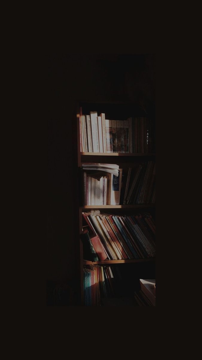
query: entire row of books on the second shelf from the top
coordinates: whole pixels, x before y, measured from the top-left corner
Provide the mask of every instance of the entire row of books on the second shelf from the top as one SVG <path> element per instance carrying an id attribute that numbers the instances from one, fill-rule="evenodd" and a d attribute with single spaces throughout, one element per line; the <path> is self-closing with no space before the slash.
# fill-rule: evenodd
<path id="1" fill-rule="evenodd" d="M 123 169 L 118 167 L 97 163 L 82 165 L 83 205 L 119 205 L 120 198 L 123 204 L 155 203 L 155 162 L 129 167 L 124 185 L 121 184 Z"/>

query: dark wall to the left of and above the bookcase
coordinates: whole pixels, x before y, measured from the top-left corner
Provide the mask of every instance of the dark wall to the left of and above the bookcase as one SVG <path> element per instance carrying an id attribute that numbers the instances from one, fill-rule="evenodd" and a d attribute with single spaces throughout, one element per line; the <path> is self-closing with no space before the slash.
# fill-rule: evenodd
<path id="1" fill-rule="evenodd" d="M 155 104 L 155 55 L 69 54 L 49 58 L 47 305 L 73 305 L 76 101 L 126 101 L 150 112 Z"/>

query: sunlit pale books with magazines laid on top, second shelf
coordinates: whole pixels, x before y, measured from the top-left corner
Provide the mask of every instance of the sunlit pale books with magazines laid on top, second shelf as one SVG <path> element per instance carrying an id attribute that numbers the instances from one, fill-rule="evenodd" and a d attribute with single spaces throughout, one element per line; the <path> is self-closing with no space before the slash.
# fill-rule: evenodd
<path id="1" fill-rule="evenodd" d="M 122 169 L 119 165 L 87 163 L 83 169 L 83 205 L 119 205 Z"/>

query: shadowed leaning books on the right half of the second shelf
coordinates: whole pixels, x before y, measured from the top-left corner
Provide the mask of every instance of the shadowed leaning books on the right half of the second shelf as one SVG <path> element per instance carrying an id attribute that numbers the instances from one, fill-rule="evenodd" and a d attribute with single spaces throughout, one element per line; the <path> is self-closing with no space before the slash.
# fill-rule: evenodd
<path id="1" fill-rule="evenodd" d="M 123 204 L 155 203 L 155 162 L 148 161 L 138 167 L 129 167 Z"/>

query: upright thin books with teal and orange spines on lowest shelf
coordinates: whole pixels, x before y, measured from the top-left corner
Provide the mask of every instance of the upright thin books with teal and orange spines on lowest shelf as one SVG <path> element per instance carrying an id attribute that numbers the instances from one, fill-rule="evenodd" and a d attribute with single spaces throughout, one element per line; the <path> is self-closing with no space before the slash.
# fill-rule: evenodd
<path id="1" fill-rule="evenodd" d="M 94 270 L 84 266 L 83 270 L 85 306 L 100 306 L 101 299 L 117 294 L 116 289 L 121 278 L 118 266 L 94 266 Z"/>

